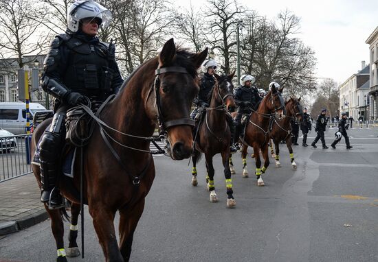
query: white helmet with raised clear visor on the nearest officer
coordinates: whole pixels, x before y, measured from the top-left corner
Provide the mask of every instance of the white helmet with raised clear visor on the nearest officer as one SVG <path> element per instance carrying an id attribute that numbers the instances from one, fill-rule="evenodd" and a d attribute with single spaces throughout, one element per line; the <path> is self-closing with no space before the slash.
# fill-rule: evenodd
<path id="1" fill-rule="evenodd" d="M 72 33 L 78 32 L 80 20 L 86 18 L 100 19 L 99 26 L 105 28 L 111 22 L 111 12 L 95 1 L 76 1 L 67 10 L 67 29 Z"/>

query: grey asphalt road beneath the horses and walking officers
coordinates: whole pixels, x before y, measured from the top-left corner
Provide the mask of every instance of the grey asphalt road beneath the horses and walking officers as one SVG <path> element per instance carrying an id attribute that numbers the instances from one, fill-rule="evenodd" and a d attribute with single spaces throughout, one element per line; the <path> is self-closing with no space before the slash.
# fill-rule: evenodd
<path id="1" fill-rule="evenodd" d="M 334 132 L 326 133 L 327 144 Z M 282 167 L 271 159 L 265 187 L 256 186 L 250 157 L 251 176 L 241 177 L 236 154 L 235 209 L 225 206 L 219 156 L 214 159 L 218 203 L 209 202 L 205 190 L 204 160 L 197 167 L 199 186 L 192 187 L 188 160 L 156 156 L 157 176 L 131 261 L 378 261 L 378 130 L 349 134 L 353 150 L 346 150 L 344 140 L 337 150 L 294 147 L 297 170 L 283 145 Z M 311 143 L 314 134 L 309 136 Z M 69 261 L 104 261 L 88 213 L 85 219 L 85 259 Z M 55 256 L 49 221 L 0 239 L 0 261 L 55 261 Z"/>

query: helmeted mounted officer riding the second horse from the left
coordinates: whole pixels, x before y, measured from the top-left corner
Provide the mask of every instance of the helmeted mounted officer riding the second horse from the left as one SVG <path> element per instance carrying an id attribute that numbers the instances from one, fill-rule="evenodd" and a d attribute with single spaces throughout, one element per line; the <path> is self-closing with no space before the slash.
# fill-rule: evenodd
<path id="1" fill-rule="evenodd" d="M 212 60 L 212 59 L 203 61 L 201 65 L 201 71 L 203 73 L 203 76 L 199 82 L 199 93 L 197 97 L 194 98 L 194 104 L 196 105 L 196 108 L 194 108 L 192 114 L 190 115 L 190 117 L 192 119 L 195 119 L 196 121 L 199 121 L 203 112 L 205 112 L 206 108 L 210 106 L 211 91 L 215 84 L 214 73 L 216 72 L 216 66 L 217 64 L 215 60 Z M 232 136 L 235 132 L 234 121 L 232 120 L 232 117 L 230 114 L 226 114 L 226 119 L 227 119 L 228 125 L 230 126 L 231 141 L 232 141 Z M 194 130 L 194 132 L 195 131 L 197 131 L 197 127 Z M 230 147 L 230 150 L 232 153 L 236 152 L 236 148 L 233 147 L 232 145 Z"/>

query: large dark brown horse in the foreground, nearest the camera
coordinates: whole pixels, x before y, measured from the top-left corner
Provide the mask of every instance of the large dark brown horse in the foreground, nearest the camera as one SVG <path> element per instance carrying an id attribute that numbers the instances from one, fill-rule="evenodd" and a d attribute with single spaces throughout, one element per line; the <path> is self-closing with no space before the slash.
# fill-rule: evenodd
<path id="1" fill-rule="evenodd" d="M 189 158 L 192 153 L 194 121 L 189 119 L 189 111 L 199 90 L 197 69 L 207 53 L 207 49 L 201 53 L 176 49 L 173 39 L 168 40 L 159 56 L 142 64 L 100 113 L 100 119 L 113 129 L 96 126 L 84 148 L 83 195 L 106 261 L 129 261 L 133 233 L 155 178 L 146 137 L 152 136 L 156 123 L 168 132 L 173 159 Z M 36 128 L 32 154 L 48 124 L 45 121 Z M 76 174 L 79 170 L 80 165 L 75 165 Z M 39 167 L 34 165 L 33 171 L 41 187 Z M 71 231 L 77 230 L 80 177 L 61 176 L 59 188 L 73 203 Z M 52 219 L 52 232 L 60 252 L 57 261 L 67 261 L 60 215 L 64 211 L 49 210 L 46 205 L 45 208 Z M 120 246 L 113 223 L 117 211 L 120 212 Z M 76 235 L 70 232 L 70 248 L 77 247 Z"/>

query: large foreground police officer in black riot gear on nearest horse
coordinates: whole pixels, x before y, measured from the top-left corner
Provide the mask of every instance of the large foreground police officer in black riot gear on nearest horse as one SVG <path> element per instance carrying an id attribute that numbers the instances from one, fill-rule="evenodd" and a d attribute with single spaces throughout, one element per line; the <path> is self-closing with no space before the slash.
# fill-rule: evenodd
<path id="1" fill-rule="evenodd" d="M 81 0 L 67 10 L 67 34 L 52 41 L 44 62 L 41 86 L 54 96 L 54 117 L 42 136 L 41 201 L 51 209 L 63 205 L 63 197 L 56 187 L 60 174 L 60 154 L 65 144 L 65 116 L 69 108 L 78 104 L 104 102 L 118 93 L 123 83 L 115 62 L 115 47 L 101 43 L 98 28 L 107 27 L 111 12 L 95 1 Z"/>

